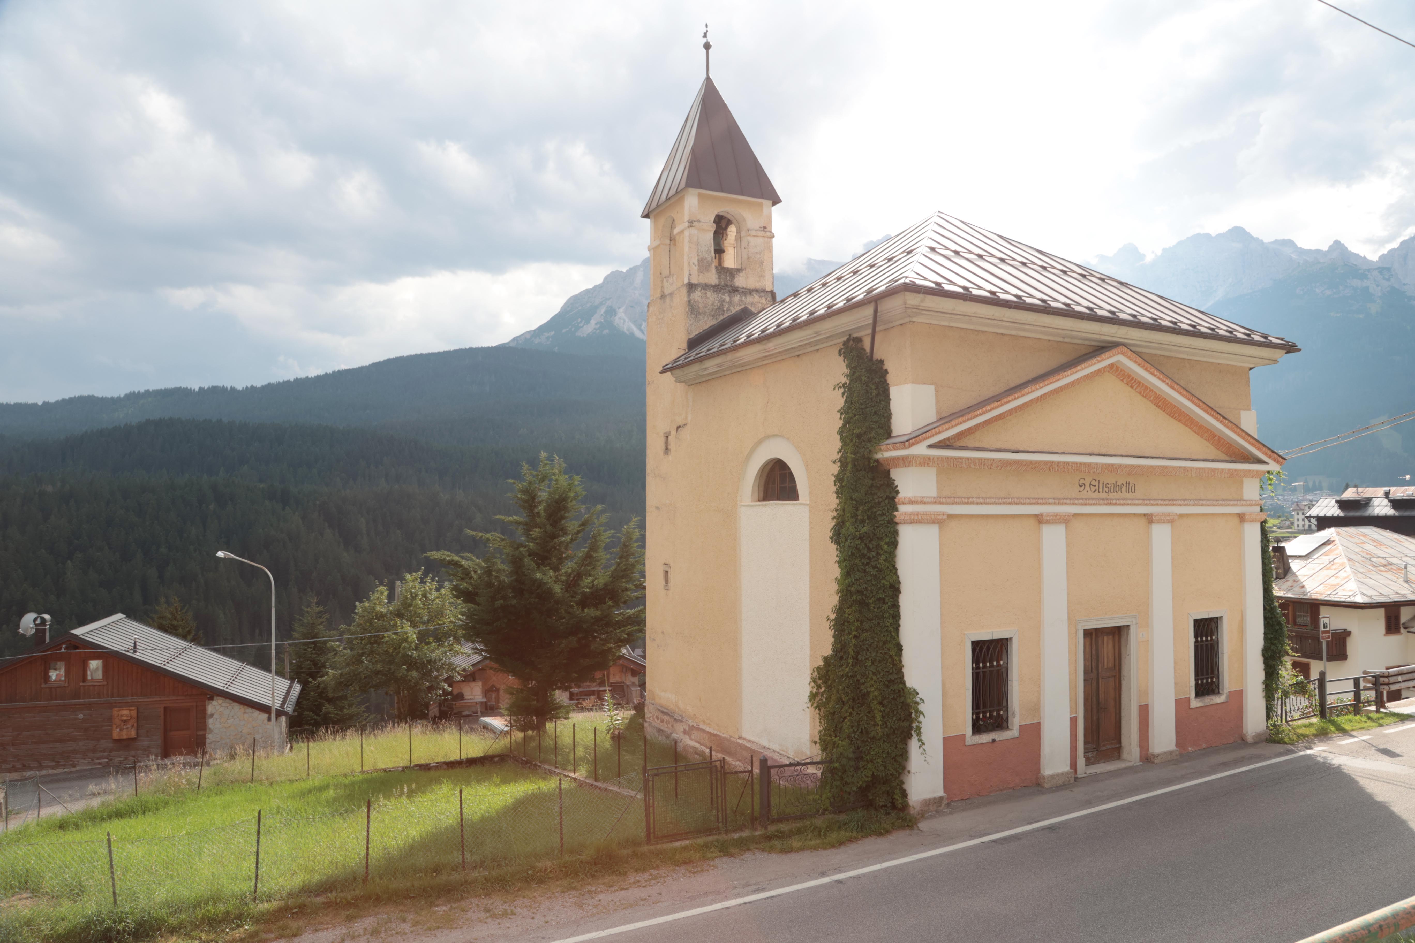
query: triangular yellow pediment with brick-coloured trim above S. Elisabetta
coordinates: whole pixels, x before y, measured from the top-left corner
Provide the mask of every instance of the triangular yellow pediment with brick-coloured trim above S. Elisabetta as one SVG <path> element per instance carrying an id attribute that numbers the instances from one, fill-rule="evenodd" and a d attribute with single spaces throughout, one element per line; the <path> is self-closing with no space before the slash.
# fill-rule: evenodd
<path id="1" fill-rule="evenodd" d="M 1235 423 L 1124 346 L 1064 363 L 882 451 L 969 450 L 1281 467 Z"/>

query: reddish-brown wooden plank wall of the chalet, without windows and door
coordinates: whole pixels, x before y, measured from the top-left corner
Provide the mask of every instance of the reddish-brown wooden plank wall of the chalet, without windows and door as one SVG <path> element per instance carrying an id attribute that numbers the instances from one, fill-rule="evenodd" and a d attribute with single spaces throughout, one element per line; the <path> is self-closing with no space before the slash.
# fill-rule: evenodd
<path id="1" fill-rule="evenodd" d="M 103 680 L 83 681 L 103 659 Z M 47 684 L 48 662 L 67 659 L 65 684 Z M 197 749 L 207 744 L 205 690 L 110 653 L 44 652 L 0 670 L 0 771 L 132 763 L 163 755 L 163 708 L 192 707 Z M 113 739 L 113 708 L 137 708 L 137 737 Z"/>

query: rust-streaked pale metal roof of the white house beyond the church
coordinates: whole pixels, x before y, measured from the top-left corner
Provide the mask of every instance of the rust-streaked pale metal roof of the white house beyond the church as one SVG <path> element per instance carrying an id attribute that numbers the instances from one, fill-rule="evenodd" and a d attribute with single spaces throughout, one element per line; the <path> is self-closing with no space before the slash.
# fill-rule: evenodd
<path id="1" fill-rule="evenodd" d="M 1329 527 L 1283 546 L 1292 570 L 1272 584 L 1279 597 L 1337 605 L 1415 601 L 1415 537 L 1384 527 Z"/>

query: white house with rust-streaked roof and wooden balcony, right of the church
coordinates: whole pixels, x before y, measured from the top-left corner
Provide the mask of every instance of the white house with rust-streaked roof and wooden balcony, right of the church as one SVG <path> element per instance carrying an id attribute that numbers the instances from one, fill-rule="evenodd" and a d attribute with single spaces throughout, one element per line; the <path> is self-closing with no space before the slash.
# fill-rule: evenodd
<path id="1" fill-rule="evenodd" d="M 1322 670 L 1322 616 L 1332 621 L 1327 677 L 1415 663 L 1415 537 L 1329 527 L 1274 550 L 1272 591 L 1288 619 L 1298 674 Z"/>

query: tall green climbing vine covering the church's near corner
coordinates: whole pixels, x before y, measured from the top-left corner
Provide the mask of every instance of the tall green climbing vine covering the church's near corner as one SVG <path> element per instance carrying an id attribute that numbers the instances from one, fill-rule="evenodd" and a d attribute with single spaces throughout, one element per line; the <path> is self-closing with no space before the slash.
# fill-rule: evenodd
<path id="1" fill-rule="evenodd" d="M 838 807 L 901 809 L 908 739 L 923 748 L 918 691 L 904 683 L 899 640 L 899 488 L 874 451 L 890 434 L 889 373 L 859 338 L 841 346 L 845 379 L 831 543 L 839 573 L 831 653 L 811 674 L 821 721 L 824 787 Z"/>

